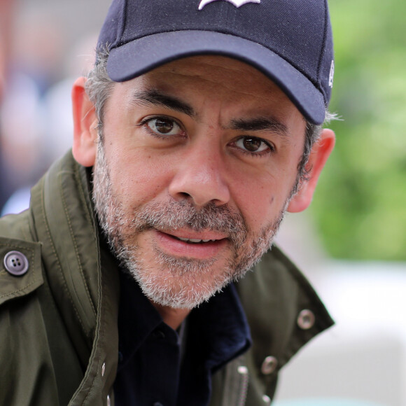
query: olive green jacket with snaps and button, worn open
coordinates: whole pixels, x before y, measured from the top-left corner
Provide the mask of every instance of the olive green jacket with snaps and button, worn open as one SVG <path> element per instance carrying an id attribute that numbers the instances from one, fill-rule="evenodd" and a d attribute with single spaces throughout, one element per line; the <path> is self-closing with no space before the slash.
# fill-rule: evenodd
<path id="1" fill-rule="evenodd" d="M 69 153 L 33 188 L 29 210 L 0 220 L 1 406 L 114 404 L 118 266 L 99 241 L 87 177 Z M 27 258 L 25 274 L 8 272 L 10 251 Z M 253 346 L 216 372 L 211 406 L 269 404 L 279 369 L 332 325 L 277 248 L 237 289 Z"/>

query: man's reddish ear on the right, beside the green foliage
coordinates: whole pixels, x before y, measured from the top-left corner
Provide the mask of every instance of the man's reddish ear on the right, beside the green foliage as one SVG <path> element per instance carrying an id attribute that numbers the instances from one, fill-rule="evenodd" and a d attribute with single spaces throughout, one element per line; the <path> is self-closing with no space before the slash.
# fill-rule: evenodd
<path id="1" fill-rule="evenodd" d="M 335 134 L 332 130 L 323 130 L 321 136 L 311 148 L 309 161 L 306 169 L 309 171 L 308 179 L 300 181 L 299 191 L 293 196 L 288 205 L 290 213 L 297 213 L 307 209 L 313 198 L 316 189 L 318 176 L 327 161 L 335 144 Z"/>

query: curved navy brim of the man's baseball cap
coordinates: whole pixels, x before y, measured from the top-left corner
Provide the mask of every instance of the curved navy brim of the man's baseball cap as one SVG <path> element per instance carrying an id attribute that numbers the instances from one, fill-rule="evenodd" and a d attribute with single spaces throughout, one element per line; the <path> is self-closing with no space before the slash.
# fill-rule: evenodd
<path id="1" fill-rule="evenodd" d="M 193 55 L 223 55 L 251 64 L 278 85 L 311 123 L 325 117 L 323 94 L 285 59 L 258 43 L 214 31 L 170 31 L 111 49 L 107 73 L 124 82 L 162 64 Z"/>

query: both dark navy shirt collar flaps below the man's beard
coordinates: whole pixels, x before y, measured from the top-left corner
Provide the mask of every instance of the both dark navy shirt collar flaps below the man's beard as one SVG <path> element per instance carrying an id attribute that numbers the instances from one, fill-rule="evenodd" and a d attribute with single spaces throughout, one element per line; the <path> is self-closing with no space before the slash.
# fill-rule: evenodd
<path id="1" fill-rule="evenodd" d="M 123 362 L 119 369 L 153 330 L 163 323 L 162 317 L 142 293 L 138 283 L 124 269 L 120 269 L 120 286 L 118 334 Z M 197 349 L 193 347 L 200 346 L 198 353 L 204 356 L 202 362 L 211 373 L 251 346 L 248 322 L 233 283 L 193 309 L 187 325 L 186 337 L 190 340 L 188 347 L 191 346 L 189 348 L 196 353 Z"/>

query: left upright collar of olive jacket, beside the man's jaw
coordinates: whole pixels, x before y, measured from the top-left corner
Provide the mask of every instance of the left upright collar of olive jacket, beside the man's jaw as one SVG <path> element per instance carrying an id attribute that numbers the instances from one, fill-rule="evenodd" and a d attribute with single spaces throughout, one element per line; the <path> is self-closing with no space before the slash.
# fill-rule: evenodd
<path id="1" fill-rule="evenodd" d="M 48 283 L 85 370 L 70 405 L 104 404 L 118 358 L 118 266 L 99 241 L 89 190 L 68 153 L 31 192 Z"/>

